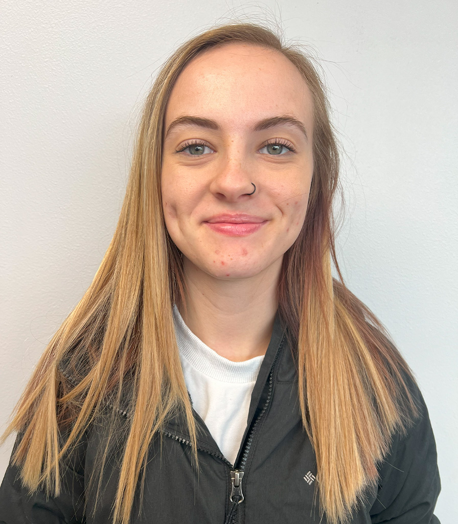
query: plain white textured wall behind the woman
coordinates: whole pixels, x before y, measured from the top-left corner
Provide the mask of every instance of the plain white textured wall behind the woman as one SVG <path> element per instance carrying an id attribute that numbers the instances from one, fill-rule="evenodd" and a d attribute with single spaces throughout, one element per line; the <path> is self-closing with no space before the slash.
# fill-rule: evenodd
<path id="1" fill-rule="evenodd" d="M 229 9 L 230 7 L 230 9 Z M 108 246 L 132 126 L 177 45 L 231 12 L 281 15 L 318 49 L 348 154 L 349 287 L 418 377 L 437 439 L 442 524 L 458 519 L 458 10 L 454 2 L 9 2 L 0 43 L 0 422 Z M 0 453 L 0 475 L 10 448 Z"/>

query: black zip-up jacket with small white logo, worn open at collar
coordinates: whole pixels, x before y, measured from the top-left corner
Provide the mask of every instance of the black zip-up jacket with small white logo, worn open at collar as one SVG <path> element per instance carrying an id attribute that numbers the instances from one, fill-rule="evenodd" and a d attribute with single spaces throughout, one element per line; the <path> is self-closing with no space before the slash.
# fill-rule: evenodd
<path id="1" fill-rule="evenodd" d="M 433 515 L 440 491 L 434 437 L 425 403 L 418 389 L 412 388 L 421 416 L 407 436 L 395 435 L 378 465 L 378 486 L 367 488 L 364 503 L 354 510 L 349 524 L 439 523 Z M 118 416 L 122 421 L 128 413 L 120 410 Z M 302 427 L 294 361 L 278 319 L 251 396 L 248 426 L 234 466 L 222 456 L 197 413 L 195 417 L 203 428 L 197 441 L 199 474 L 183 419 L 177 416 L 166 425 L 162 453 L 159 439 L 151 445 L 143 506 L 139 510 L 137 498 L 132 524 L 327 522 L 320 520 L 315 454 Z M 110 453 L 95 512 L 95 491 L 85 489 L 103 439 L 103 427 L 94 424 L 72 455 L 62 493 L 55 498 L 41 491 L 28 495 L 17 468 L 10 464 L 0 488 L 0 523 L 109 524 L 119 450 Z"/>

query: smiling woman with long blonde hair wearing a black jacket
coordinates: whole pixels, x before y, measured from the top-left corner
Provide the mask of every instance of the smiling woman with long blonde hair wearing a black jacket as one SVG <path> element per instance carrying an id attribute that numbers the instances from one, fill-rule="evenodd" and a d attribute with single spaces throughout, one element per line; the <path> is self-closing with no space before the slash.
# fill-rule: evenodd
<path id="1" fill-rule="evenodd" d="M 438 522 L 415 380 L 331 276 L 338 168 L 323 85 L 270 30 L 174 53 L 113 241 L 6 432 L 1 521 Z"/>

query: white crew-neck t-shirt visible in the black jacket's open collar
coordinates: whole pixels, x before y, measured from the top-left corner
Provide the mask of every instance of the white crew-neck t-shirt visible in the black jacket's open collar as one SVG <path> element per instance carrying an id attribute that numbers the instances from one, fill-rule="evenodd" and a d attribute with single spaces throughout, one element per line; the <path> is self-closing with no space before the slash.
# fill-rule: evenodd
<path id="1" fill-rule="evenodd" d="M 232 362 L 189 330 L 176 305 L 173 319 L 193 408 L 202 417 L 221 453 L 233 464 L 247 427 L 251 392 L 264 356 Z"/>

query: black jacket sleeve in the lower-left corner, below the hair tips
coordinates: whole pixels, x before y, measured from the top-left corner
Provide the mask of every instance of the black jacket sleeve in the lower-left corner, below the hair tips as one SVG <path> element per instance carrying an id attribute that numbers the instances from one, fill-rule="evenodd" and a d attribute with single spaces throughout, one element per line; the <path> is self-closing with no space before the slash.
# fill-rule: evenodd
<path id="1" fill-rule="evenodd" d="M 62 465 L 62 489 L 54 497 L 42 489 L 30 493 L 10 461 L 0 487 L 0 524 L 83 524 L 84 449 L 81 441 Z"/>

